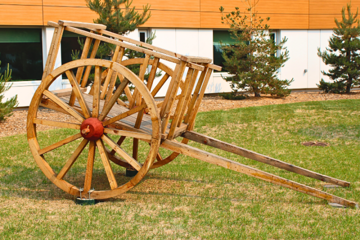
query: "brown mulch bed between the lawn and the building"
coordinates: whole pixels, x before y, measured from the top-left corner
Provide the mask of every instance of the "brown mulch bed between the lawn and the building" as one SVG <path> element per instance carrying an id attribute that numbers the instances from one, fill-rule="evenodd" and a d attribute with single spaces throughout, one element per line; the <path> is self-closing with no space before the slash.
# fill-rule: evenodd
<path id="1" fill-rule="evenodd" d="M 286 97 L 273 97 L 263 95 L 261 97 L 249 96 L 243 100 L 226 100 L 220 96 L 205 96 L 200 105 L 199 111 L 223 110 L 247 106 L 261 106 L 271 104 L 284 104 L 290 102 L 303 101 L 323 101 L 323 100 L 340 100 L 340 99 L 360 99 L 360 90 L 354 90 L 349 94 L 332 94 L 322 92 L 292 92 Z M 61 120 L 67 122 L 76 122 L 69 115 L 59 113 L 53 110 L 39 110 L 38 118 L 49 120 Z M 27 110 L 14 111 L 13 115 L 8 117 L 4 122 L 0 122 L 0 137 L 14 134 L 26 133 Z M 46 125 L 37 125 L 37 130 L 47 130 L 55 127 Z"/>

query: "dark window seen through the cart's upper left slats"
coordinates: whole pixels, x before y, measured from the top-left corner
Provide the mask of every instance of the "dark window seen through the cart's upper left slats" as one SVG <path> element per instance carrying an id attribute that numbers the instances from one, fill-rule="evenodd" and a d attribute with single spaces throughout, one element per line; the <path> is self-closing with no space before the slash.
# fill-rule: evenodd
<path id="1" fill-rule="evenodd" d="M 73 32 L 64 31 L 61 38 L 61 64 L 72 61 L 71 54 L 75 54 L 75 51 L 79 52 L 78 58 L 81 57 L 82 51 L 78 39 L 85 42 L 86 37 Z M 76 74 L 76 70 L 77 69 L 73 69 L 74 74 Z M 62 78 L 67 79 L 66 74 L 62 74 Z"/>

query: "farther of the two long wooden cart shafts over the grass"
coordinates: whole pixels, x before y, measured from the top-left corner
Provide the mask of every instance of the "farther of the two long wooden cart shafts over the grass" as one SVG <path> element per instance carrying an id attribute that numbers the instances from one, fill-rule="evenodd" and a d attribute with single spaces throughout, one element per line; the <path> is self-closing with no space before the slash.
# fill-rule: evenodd
<path id="1" fill-rule="evenodd" d="M 287 171 L 292 171 L 295 173 L 298 173 L 300 175 L 304 175 L 304 176 L 308 176 L 311 178 L 315 178 L 321 181 L 325 181 L 325 182 L 330 182 L 339 186 L 349 186 L 350 182 L 347 181 L 343 181 L 343 180 L 339 180 L 330 176 L 326 176 L 317 172 L 313 172 L 307 169 L 304 169 L 302 167 L 299 166 L 295 166 L 293 164 L 289 164 L 287 162 L 284 161 L 280 161 L 277 160 L 275 158 L 269 157 L 269 156 L 265 156 L 262 155 L 260 153 L 251 151 L 251 150 L 247 150 L 245 148 L 224 142 L 224 141 L 220 141 L 217 140 L 213 137 L 209 137 L 194 131 L 185 131 L 184 133 L 181 134 L 182 137 L 185 137 L 187 139 L 208 145 L 208 146 L 212 146 L 212 147 L 216 147 L 218 149 L 221 150 L 225 150 L 255 161 L 259 161 L 259 162 L 263 162 L 281 169 L 285 169 Z"/>

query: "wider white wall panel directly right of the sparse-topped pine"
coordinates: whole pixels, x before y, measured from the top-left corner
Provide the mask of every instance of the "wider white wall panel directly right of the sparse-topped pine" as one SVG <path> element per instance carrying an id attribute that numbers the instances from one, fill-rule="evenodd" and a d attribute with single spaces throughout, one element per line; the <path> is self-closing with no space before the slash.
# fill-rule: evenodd
<path id="1" fill-rule="evenodd" d="M 307 30 L 281 30 L 280 35 L 288 38 L 285 46 L 290 57 L 281 68 L 281 79 L 294 78 L 289 88 L 306 88 Z"/>

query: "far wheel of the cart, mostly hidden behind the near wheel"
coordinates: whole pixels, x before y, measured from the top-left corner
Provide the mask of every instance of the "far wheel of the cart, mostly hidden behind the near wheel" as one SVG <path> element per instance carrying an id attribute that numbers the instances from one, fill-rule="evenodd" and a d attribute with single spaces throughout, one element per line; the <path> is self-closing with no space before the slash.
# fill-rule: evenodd
<path id="1" fill-rule="evenodd" d="M 121 65 L 128 66 L 128 65 L 132 65 L 132 64 L 142 64 L 144 60 L 145 60 L 144 58 L 127 59 L 127 60 L 122 61 Z M 154 60 L 149 60 L 148 64 L 153 66 L 154 65 Z M 153 90 L 151 91 L 152 96 L 156 95 L 156 93 L 161 89 L 161 87 L 165 84 L 165 82 L 169 81 L 169 79 L 171 78 L 171 76 L 173 74 L 173 70 L 169 66 L 167 66 L 167 65 L 165 65 L 165 64 L 163 64 L 161 62 L 157 63 L 156 65 L 157 65 L 157 69 L 164 71 L 165 74 L 162 76 L 162 78 L 159 80 L 159 82 L 153 87 Z M 181 79 L 180 86 L 179 86 L 181 90 L 183 88 L 183 84 L 184 84 L 184 80 Z M 179 95 L 181 95 L 181 93 L 179 93 Z M 193 126 L 193 122 L 189 122 L 189 124 L 191 124 Z M 125 137 L 122 136 L 122 138 L 119 139 L 119 143 L 121 143 L 121 141 L 124 138 Z M 188 139 L 183 138 L 181 140 L 181 143 L 187 144 L 188 141 L 189 141 Z M 114 151 L 112 151 L 112 153 L 114 153 Z M 178 152 L 171 152 L 167 156 L 161 156 L 159 154 L 159 152 L 158 152 L 157 155 L 156 155 L 156 160 L 157 161 L 155 161 L 150 168 L 152 169 L 152 168 L 157 168 L 157 167 L 163 166 L 163 165 L 171 162 L 178 155 L 179 155 Z M 122 162 L 118 161 L 116 158 L 111 157 L 110 160 L 112 160 L 116 164 L 120 164 L 120 165 L 122 164 Z"/>

